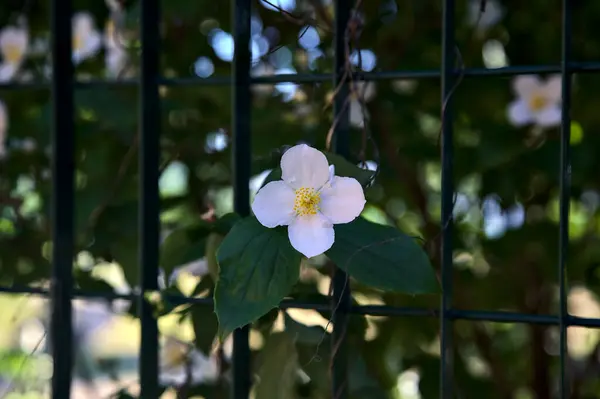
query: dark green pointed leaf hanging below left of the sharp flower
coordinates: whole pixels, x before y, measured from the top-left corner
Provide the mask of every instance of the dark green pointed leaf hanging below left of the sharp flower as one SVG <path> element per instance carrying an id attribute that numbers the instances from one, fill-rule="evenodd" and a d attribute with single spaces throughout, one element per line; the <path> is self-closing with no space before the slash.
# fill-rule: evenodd
<path id="1" fill-rule="evenodd" d="M 300 260 L 280 229 L 268 229 L 254 217 L 237 223 L 217 252 L 220 338 L 279 306 L 298 280 Z"/>

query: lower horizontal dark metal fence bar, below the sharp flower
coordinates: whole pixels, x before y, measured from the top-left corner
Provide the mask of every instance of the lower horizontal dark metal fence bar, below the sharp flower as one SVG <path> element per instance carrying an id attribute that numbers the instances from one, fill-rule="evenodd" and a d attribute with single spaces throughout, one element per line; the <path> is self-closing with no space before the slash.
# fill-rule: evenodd
<path id="1" fill-rule="evenodd" d="M 19 294 L 19 295 L 38 295 L 48 297 L 49 291 L 40 287 L 1 287 L 0 293 Z M 106 300 L 137 300 L 135 294 L 118 294 L 116 292 L 89 292 L 80 289 L 73 290 L 75 299 L 106 299 Z M 213 306 L 212 298 L 193 298 L 181 295 L 165 295 L 165 298 L 175 305 L 201 305 Z M 281 309 L 312 309 L 317 311 L 331 311 L 331 305 L 327 302 L 305 302 L 293 299 L 284 299 L 280 306 Z M 349 313 L 369 315 L 369 316 L 416 316 L 416 317 L 439 317 L 438 309 L 413 308 L 413 307 L 394 307 L 387 305 L 353 305 Z M 555 315 L 527 314 L 506 311 L 480 311 L 480 310 L 461 310 L 453 309 L 449 312 L 449 317 L 453 320 L 473 320 L 487 321 L 495 323 L 532 323 L 545 325 L 559 325 L 560 318 Z M 600 318 L 588 318 L 568 315 L 565 318 L 566 324 L 571 327 L 600 328 Z"/>

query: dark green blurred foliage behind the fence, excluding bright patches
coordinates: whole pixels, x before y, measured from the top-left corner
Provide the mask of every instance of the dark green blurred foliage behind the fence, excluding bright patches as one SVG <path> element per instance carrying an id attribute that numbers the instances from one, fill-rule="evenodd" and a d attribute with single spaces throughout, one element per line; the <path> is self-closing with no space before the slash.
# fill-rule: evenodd
<path id="1" fill-rule="evenodd" d="M 14 0 L 0 4 L 0 26 L 16 22 L 22 3 Z M 75 3 L 78 10 L 91 12 L 100 28 L 109 18 L 102 2 Z M 135 76 L 139 9 L 136 1 L 125 3 L 122 28 L 127 30 L 126 45 Z M 198 57 L 206 56 L 214 63 L 215 76 L 230 73 L 231 64 L 215 55 L 207 37 L 217 27 L 231 32 L 229 3 L 178 0 L 162 4 L 162 73 L 169 78 L 193 78 L 189 85 L 165 86 L 161 90 L 162 162 L 167 166 L 176 160 L 180 170 L 186 171 L 170 178 L 171 190 L 166 183 L 163 186 L 163 228 L 165 232 L 175 231 L 161 247 L 160 262 L 167 273 L 204 255 L 214 272 L 214 250 L 219 237 L 228 230 L 227 223 L 219 224 L 217 220 L 232 210 L 231 145 L 215 151 L 207 146 L 207 140 L 210 144 L 220 129 L 230 138 L 232 91 L 227 86 L 201 85 L 202 79 L 193 76 L 193 64 Z M 331 72 L 332 35 L 327 19 L 323 18 L 332 18 L 330 4 L 324 6 L 324 14 L 316 14 L 320 49 L 325 55 L 311 70 L 306 51 L 297 39 L 305 25 L 302 12 L 311 10 L 314 2 L 297 0 L 294 18 L 253 3 L 263 27 L 274 27 L 279 32 L 278 42 L 271 47 L 286 46 L 299 73 Z M 389 7 L 390 3 L 397 5 L 397 11 Z M 503 0 L 505 16 L 486 29 L 469 24 L 467 2 L 457 3 L 457 46 L 467 67 L 485 66 L 482 51 L 490 40 L 503 46 L 510 65 L 559 64 L 559 1 Z M 573 59 L 597 61 L 600 42 L 594 27 L 600 22 L 600 3 L 574 2 L 573 9 Z M 364 1 L 361 12 L 365 23 L 356 45 L 375 53 L 375 71 L 440 68 L 440 1 Z M 27 18 L 32 38 L 48 37 L 48 2 L 32 1 Z M 47 55 L 30 56 L 23 70 L 33 75 L 33 82 L 39 82 L 44 79 L 46 62 Z M 102 78 L 102 54 L 79 65 L 77 73 L 82 79 Z M 368 130 L 377 150 L 369 144 L 364 155 L 379 163 L 380 173 L 367 192 L 369 208 L 365 216 L 423 237 L 438 268 L 436 248 L 443 224 L 439 220 L 439 79 L 411 82 L 410 90 L 406 89 L 410 86 L 407 82 L 379 80 L 375 84 L 376 95 L 366 107 L 370 115 Z M 305 96 L 296 96 L 288 102 L 282 101 L 281 95 L 255 93 L 249 121 L 253 174 L 277 166 L 283 146 L 302 140 L 324 148 L 332 124 L 331 110 L 324 107 L 333 87 L 328 83 L 302 84 L 299 89 Z M 584 287 L 593 298 L 586 306 L 577 307 L 584 309 L 578 312 L 596 317 L 600 313 L 595 302 L 600 289 L 596 267 L 600 261 L 598 90 L 597 74 L 575 74 L 568 248 L 569 287 Z M 9 156 L 0 161 L 0 283 L 4 286 L 44 283 L 50 273 L 51 251 L 48 206 L 52 186 L 47 177 L 46 151 L 49 91 L 31 82 L 24 82 L 21 88 L 0 85 L 0 99 L 6 103 L 10 117 Z M 77 219 L 77 250 L 87 251 L 95 261 L 114 260 L 122 267 L 128 284 L 135 286 L 139 206 L 135 150 L 137 89 L 134 85 L 94 85 L 78 88 L 76 100 L 77 192 L 73 211 Z M 513 100 L 510 78 L 467 77 L 453 100 L 455 182 L 457 191 L 464 195 L 462 199 L 468 200 L 457 204 L 462 205 L 461 211 L 457 211 L 454 234 L 454 306 L 557 314 L 559 130 L 552 128 L 536 135 L 531 127 L 515 128 L 509 124 L 506 109 Z M 25 151 L 21 146 L 24 139 L 33 139 L 36 149 Z M 361 129 L 353 128 L 351 139 L 352 161 L 358 162 L 363 140 Z M 165 170 L 171 172 L 170 168 Z M 181 176 L 183 184 L 179 187 L 173 179 Z M 520 204 L 525 210 L 524 223 L 500 236 L 486 236 L 481 207 L 489 195 L 496 196 L 503 210 L 514 210 Z M 325 262 L 305 266 L 304 278 L 293 296 L 326 301 L 318 282 L 329 276 L 330 265 Z M 110 289 L 94 275 L 93 269 L 90 273 L 78 268 L 77 285 L 93 291 Z M 194 291 L 208 296 L 213 286 L 213 277 L 208 274 Z M 382 294 L 356 283 L 352 283 L 352 289 L 358 303 L 430 309 L 439 305 L 436 296 Z M 197 307 L 174 311 L 182 313 L 184 318 L 191 317 L 195 344 L 208 351 L 216 334 L 214 315 Z M 134 317 L 134 310 L 131 313 Z M 330 317 L 327 312 L 322 316 Z M 263 337 L 263 345 L 253 349 L 253 375 L 260 377 L 255 388 L 257 397 L 330 397 L 328 337 L 319 347 L 323 360 L 309 362 L 323 335 L 322 327 L 308 326 L 286 315 L 285 329 L 272 332 L 275 318 L 275 313 L 270 314 L 254 326 Z M 524 399 L 555 394 L 559 380 L 556 328 L 458 321 L 455 331 L 455 384 L 460 397 Z M 586 334 L 583 355 L 579 351 L 576 357 L 572 351 L 568 361 L 574 398 L 597 397 L 600 392 L 597 377 L 600 365 L 593 356 L 599 337 L 595 331 Z M 407 370 L 418 373 L 421 397 L 437 397 L 439 322 L 436 318 L 355 315 L 351 317 L 348 341 L 353 398 L 417 397 L 397 388 L 400 375 L 403 378 L 412 375 L 406 374 Z M 577 342 L 570 339 L 569 344 L 573 349 Z M 308 378 L 298 377 L 298 369 Z M 218 389 L 203 386 L 197 392 L 217 398 L 227 386 L 224 379 Z M 278 393 L 273 396 L 273 392 Z M 193 389 L 188 393 L 194 393 Z"/>

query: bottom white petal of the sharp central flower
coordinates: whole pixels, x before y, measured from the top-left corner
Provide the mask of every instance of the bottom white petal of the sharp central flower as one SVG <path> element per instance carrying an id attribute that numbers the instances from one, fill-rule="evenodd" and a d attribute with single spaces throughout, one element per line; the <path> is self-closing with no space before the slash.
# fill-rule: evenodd
<path id="1" fill-rule="evenodd" d="M 307 258 L 321 255 L 333 245 L 333 225 L 321 214 L 299 217 L 288 227 L 290 243 Z"/>

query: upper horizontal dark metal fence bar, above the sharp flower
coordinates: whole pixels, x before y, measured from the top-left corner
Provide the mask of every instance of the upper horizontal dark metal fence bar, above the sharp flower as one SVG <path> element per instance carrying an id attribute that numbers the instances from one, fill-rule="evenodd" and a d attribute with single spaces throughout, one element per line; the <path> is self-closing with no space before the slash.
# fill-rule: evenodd
<path id="1" fill-rule="evenodd" d="M 573 73 L 599 72 L 600 62 L 573 62 L 569 64 L 569 71 Z M 486 77 L 486 76 L 515 76 L 538 73 L 560 73 L 560 65 L 522 65 L 509 66 L 505 68 L 466 68 L 462 72 L 455 70 L 455 75 L 464 77 Z M 329 83 L 332 74 L 281 74 L 271 76 L 256 76 L 250 79 L 251 84 L 277 84 L 277 83 Z M 395 80 L 395 79 L 434 79 L 440 78 L 439 70 L 404 70 L 404 71 L 382 71 L 382 72 L 364 72 L 356 73 L 355 79 L 377 81 L 377 80 Z M 139 84 L 137 79 L 123 80 L 102 80 L 92 79 L 75 82 L 78 89 L 92 89 L 95 87 L 134 87 Z M 161 86 L 227 86 L 232 84 L 230 76 L 214 76 L 209 78 L 161 78 Z M 15 89 L 49 89 L 50 82 L 3 82 L 0 83 L 0 90 Z"/>

